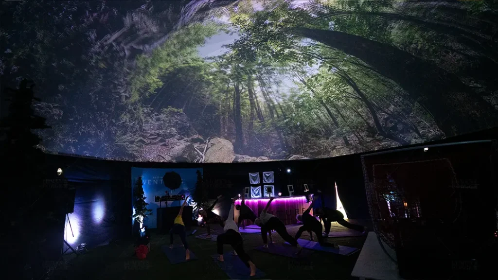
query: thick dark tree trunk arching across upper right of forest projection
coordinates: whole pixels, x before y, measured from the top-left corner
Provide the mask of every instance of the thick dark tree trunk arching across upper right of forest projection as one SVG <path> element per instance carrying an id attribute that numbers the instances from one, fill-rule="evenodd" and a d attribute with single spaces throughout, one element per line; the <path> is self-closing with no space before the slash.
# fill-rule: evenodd
<path id="1" fill-rule="evenodd" d="M 456 75 L 394 46 L 339 31 L 302 27 L 294 31 L 373 66 L 426 108 L 447 137 L 498 125 L 495 108 Z"/>

